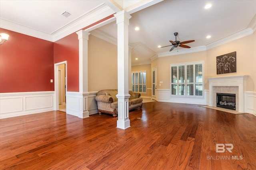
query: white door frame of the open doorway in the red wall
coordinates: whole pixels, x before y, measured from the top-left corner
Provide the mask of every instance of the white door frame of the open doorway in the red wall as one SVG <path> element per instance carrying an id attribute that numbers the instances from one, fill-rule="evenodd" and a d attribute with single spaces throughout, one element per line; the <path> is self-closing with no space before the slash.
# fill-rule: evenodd
<path id="1" fill-rule="evenodd" d="M 62 61 L 60 63 L 54 64 L 54 110 L 59 110 L 59 65 L 65 64 L 65 72 L 66 72 L 66 80 L 68 79 L 67 76 L 67 61 Z M 65 82 L 67 84 L 67 82 Z M 65 88 L 67 92 L 67 86 Z"/>

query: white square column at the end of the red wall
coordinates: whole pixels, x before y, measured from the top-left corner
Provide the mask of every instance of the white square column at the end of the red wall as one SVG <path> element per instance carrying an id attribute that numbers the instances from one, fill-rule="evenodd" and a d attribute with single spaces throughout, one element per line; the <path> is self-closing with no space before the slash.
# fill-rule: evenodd
<path id="1" fill-rule="evenodd" d="M 79 111 L 78 117 L 89 117 L 88 111 L 88 39 L 90 33 L 76 32 L 79 40 Z"/>

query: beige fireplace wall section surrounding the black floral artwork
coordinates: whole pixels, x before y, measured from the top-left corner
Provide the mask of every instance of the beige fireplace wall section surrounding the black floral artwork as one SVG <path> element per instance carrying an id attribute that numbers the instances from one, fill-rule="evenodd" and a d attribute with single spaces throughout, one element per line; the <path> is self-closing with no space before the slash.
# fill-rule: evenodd
<path id="1" fill-rule="evenodd" d="M 247 91 L 256 91 L 255 83 L 255 34 L 207 50 L 207 67 L 205 77 L 249 75 L 246 81 Z M 236 51 L 236 72 L 217 74 L 216 57 Z M 208 89 L 208 88 L 207 88 Z"/>

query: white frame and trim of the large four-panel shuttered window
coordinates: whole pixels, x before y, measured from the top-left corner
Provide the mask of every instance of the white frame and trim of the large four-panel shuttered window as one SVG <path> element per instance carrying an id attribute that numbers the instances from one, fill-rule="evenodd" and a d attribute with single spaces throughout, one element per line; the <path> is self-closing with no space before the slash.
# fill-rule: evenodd
<path id="1" fill-rule="evenodd" d="M 187 95 L 187 85 L 188 84 L 191 84 L 191 83 L 187 83 L 187 65 L 192 65 L 193 64 L 193 75 L 194 75 L 194 80 L 193 80 L 193 84 L 194 86 L 196 84 L 202 84 L 202 96 L 196 96 L 196 95 Z M 196 83 L 196 77 L 195 77 L 195 65 L 196 64 L 202 64 L 202 82 L 200 83 Z M 185 70 L 184 70 L 184 73 L 185 73 L 185 81 L 184 83 L 180 83 L 180 84 L 184 84 L 185 86 L 185 92 L 184 92 L 184 95 L 180 95 L 180 94 L 172 94 L 172 84 L 179 84 L 178 83 L 178 79 L 177 79 L 177 83 L 172 83 L 172 67 L 173 66 L 177 66 L 177 73 L 178 73 L 178 67 L 179 66 L 182 66 L 184 65 L 185 66 Z M 194 91 L 194 94 L 196 94 L 196 92 Z M 183 97 L 183 98 L 204 98 L 204 61 L 195 61 L 195 62 L 187 62 L 187 63 L 177 63 L 177 64 L 170 64 L 170 97 Z"/>

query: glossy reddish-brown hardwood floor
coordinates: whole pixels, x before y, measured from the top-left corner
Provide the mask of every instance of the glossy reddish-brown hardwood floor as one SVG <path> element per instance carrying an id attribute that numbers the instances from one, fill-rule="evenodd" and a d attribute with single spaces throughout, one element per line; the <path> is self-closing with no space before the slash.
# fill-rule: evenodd
<path id="1" fill-rule="evenodd" d="M 0 119 L 0 169 L 256 170 L 252 114 L 151 102 L 130 111 L 128 129 L 117 119 L 62 111 Z M 216 144 L 234 148 L 216 153 Z"/>

